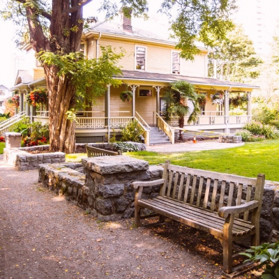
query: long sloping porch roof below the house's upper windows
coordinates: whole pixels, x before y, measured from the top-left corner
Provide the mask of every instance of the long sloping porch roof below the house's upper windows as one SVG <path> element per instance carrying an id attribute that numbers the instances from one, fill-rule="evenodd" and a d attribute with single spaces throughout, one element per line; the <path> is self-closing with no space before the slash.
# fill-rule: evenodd
<path id="1" fill-rule="evenodd" d="M 167 85 L 169 82 L 184 80 L 190 84 L 193 84 L 197 89 L 201 90 L 227 89 L 230 91 L 252 91 L 252 89 L 259 89 L 259 86 L 255 85 L 241 82 L 229 82 L 226 80 L 217 80 L 211 77 L 188 77 L 185 75 L 146 73 L 140 70 L 122 70 L 122 75 L 114 78 L 121 79 L 125 82 L 153 82 L 153 85 L 157 85 L 156 83 L 165 83 Z"/>

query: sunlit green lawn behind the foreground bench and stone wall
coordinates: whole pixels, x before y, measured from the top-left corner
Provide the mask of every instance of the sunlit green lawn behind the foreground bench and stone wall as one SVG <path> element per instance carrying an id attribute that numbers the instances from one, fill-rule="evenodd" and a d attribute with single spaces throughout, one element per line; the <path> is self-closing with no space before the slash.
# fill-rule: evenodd
<path id="1" fill-rule="evenodd" d="M 174 165 L 241 176 L 255 177 L 258 173 L 263 173 L 267 180 L 279 181 L 279 140 L 249 142 L 232 149 L 181 153 L 139 151 L 126 155 L 146 160 L 150 165 L 170 160 Z"/>

